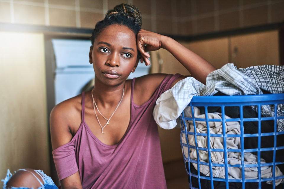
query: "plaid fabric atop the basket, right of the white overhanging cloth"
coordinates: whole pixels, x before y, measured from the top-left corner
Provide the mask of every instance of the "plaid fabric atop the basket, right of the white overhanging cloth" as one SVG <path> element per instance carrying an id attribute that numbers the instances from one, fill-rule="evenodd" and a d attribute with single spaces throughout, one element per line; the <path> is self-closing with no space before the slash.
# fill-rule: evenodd
<path id="1" fill-rule="evenodd" d="M 262 65 L 238 69 L 231 63 L 209 73 L 203 96 L 218 91 L 226 95 L 258 95 L 264 89 L 270 93 L 284 93 L 284 66 Z M 257 106 L 252 106 L 257 111 Z M 274 116 L 272 105 L 261 106 L 262 116 Z M 277 116 L 284 116 L 284 105 L 277 105 Z M 284 131 L 284 120 L 277 120 L 277 131 Z"/>

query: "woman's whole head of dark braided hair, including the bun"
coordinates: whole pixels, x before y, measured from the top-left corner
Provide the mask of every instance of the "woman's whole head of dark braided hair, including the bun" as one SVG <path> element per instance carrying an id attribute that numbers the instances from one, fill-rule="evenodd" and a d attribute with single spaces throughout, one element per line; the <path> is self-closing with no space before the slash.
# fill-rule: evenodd
<path id="1" fill-rule="evenodd" d="M 90 38 L 92 47 L 96 36 L 102 31 L 102 29 L 112 24 L 127 26 L 136 35 L 142 25 L 141 12 L 136 6 L 124 3 L 108 10 L 104 19 L 97 22 L 95 29 L 92 32 L 92 36 Z"/>

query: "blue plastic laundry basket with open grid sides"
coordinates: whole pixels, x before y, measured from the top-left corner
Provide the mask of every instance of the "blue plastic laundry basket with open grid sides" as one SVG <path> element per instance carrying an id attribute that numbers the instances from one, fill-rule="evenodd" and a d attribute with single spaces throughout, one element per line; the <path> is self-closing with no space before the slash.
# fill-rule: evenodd
<path id="1" fill-rule="evenodd" d="M 185 168 L 186 171 L 188 173 L 188 180 L 189 180 L 189 187 L 190 188 L 201 188 L 201 182 L 205 181 L 205 180 L 209 180 L 208 182 L 210 183 L 210 188 L 214 188 L 214 181 L 221 181 L 223 182 L 223 184 L 225 184 L 225 188 L 228 189 L 229 188 L 229 184 L 231 184 L 231 182 L 234 183 L 239 183 L 239 185 L 241 185 L 241 188 L 245 188 L 246 183 L 249 182 L 254 182 L 256 185 L 258 184 L 258 188 L 261 189 L 262 188 L 262 183 L 266 183 L 267 181 L 271 182 L 271 187 L 275 188 L 275 180 L 277 179 L 282 179 L 284 178 L 284 176 L 275 176 L 275 166 L 283 166 L 284 164 L 284 159 L 281 161 L 275 161 L 276 157 L 278 157 L 278 155 L 281 155 L 280 151 L 283 151 L 284 149 L 284 145 L 278 145 L 277 142 L 280 142 L 279 140 L 284 139 L 284 132 L 277 132 L 277 120 L 281 121 L 281 119 L 284 119 L 283 115 L 279 116 L 279 110 L 277 112 L 277 105 L 278 105 L 278 109 L 279 106 L 283 106 L 284 104 L 284 93 L 281 94 L 264 94 L 264 95 L 242 95 L 242 96 L 195 96 L 192 98 L 191 102 L 188 105 L 188 108 L 191 109 L 192 112 L 192 118 L 191 117 L 186 117 L 185 116 L 185 111 L 183 111 L 182 115 L 180 116 L 180 124 L 181 124 L 181 133 L 180 133 L 180 144 L 182 147 L 182 151 L 183 151 L 183 158 L 184 158 L 184 162 L 185 162 Z M 261 114 L 261 106 L 262 105 L 270 105 L 272 107 L 272 115 L 274 113 L 274 116 L 269 116 L 269 117 L 264 117 Z M 199 109 L 203 109 L 204 113 L 205 113 L 205 118 L 195 118 L 194 117 L 194 107 L 199 107 Z M 221 109 L 221 119 L 209 119 L 208 117 L 208 109 L 212 108 L 212 107 L 219 107 Z M 249 118 L 244 118 L 243 116 L 243 110 L 245 108 L 251 108 L 254 107 L 255 109 L 255 113 L 256 113 L 256 117 L 249 117 Z M 230 108 L 231 110 L 235 109 L 236 111 L 238 111 L 239 117 L 235 117 L 235 118 L 225 118 L 225 110 L 226 108 Z M 283 108 L 283 107 L 282 107 Z M 195 109 L 196 110 L 196 109 Z M 283 109 L 282 109 L 283 111 Z M 277 116 L 278 113 L 278 116 Z M 196 132 L 196 121 L 204 121 L 204 123 L 206 124 L 207 127 L 207 131 L 204 133 L 199 133 Z M 209 128 L 209 121 L 215 121 L 215 122 L 219 122 L 222 124 L 222 131 L 226 131 L 225 127 L 226 127 L 226 122 L 229 121 L 237 121 L 240 125 L 240 134 L 226 134 L 226 132 L 222 132 L 222 134 L 212 134 L 210 133 L 210 128 Z M 254 122 L 255 124 L 257 124 L 257 129 L 255 130 L 255 133 L 252 134 L 245 134 L 244 133 L 244 123 L 247 124 L 246 122 Z M 273 124 L 271 125 L 272 127 L 272 132 L 262 132 L 262 122 L 263 121 L 272 121 Z M 194 128 L 194 132 L 189 132 L 189 128 L 188 128 L 188 122 L 191 123 L 191 129 Z M 211 122 L 212 123 L 212 122 Z M 221 127 L 221 126 L 220 126 Z M 205 128 L 206 130 L 206 128 Z M 193 131 L 193 129 L 191 130 Z M 198 143 L 197 143 L 197 138 L 198 137 L 205 137 L 205 141 L 206 141 L 206 145 L 207 147 L 199 147 Z M 262 140 L 264 140 L 265 137 L 269 136 L 270 138 L 272 138 L 271 141 L 271 146 L 272 147 L 261 147 L 262 145 Z M 182 139 L 183 137 L 183 139 Z M 189 144 L 189 139 L 192 141 L 194 138 L 194 142 L 195 145 L 190 145 Z M 227 137 L 240 137 L 240 148 L 238 149 L 227 149 L 227 145 L 226 142 L 223 142 L 223 148 L 221 149 L 216 149 L 216 148 L 211 148 L 210 147 L 210 137 L 221 137 L 222 141 L 227 141 L 226 138 Z M 247 149 L 244 147 L 244 141 L 245 139 L 249 139 L 246 137 L 254 137 L 254 139 L 257 140 L 257 147 L 256 148 L 251 148 L 251 149 Z M 281 139 L 280 139 L 281 137 Z M 276 140 L 278 138 L 278 141 Z M 252 138 L 250 138 L 252 139 Z M 186 142 L 184 142 L 186 140 Z M 266 141 L 264 141 L 266 142 Z M 205 143 L 205 142 L 204 142 Z M 187 150 L 185 150 L 187 149 Z M 190 152 L 192 149 L 196 149 L 196 153 L 197 153 L 197 160 L 195 158 L 191 159 L 190 157 Z M 187 151 L 187 152 L 186 152 Z M 195 151 L 195 150 L 194 150 Z M 208 153 L 208 161 L 200 161 L 200 153 L 201 152 Z M 202 153 L 203 153 L 202 152 Z M 211 160 L 211 153 L 213 152 L 223 152 L 223 158 L 224 158 L 224 163 L 212 163 Z M 227 154 L 228 152 L 239 152 L 241 153 L 241 164 L 236 164 L 236 165 L 230 165 L 227 162 Z M 246 152 L 251 152 L 254 153 L 255 155 L 257 155 L 257 163 L 256 164 L 249 164 L 246 165 L 245 161 L 244 161 L 244 154 Z M 272 156 L 272 162 L 266 162 L 266 163 L 261 163 L 261 153 L 270 153 Z M 282 152 L 281 152 L 282 153 Z M 267 154 L 266 154 L 267 155 Z M 197 169 L 194 170 L 196 173 L 193 173 L 194 171 L 192 169 L 194 169 L 194 167 L 192 168 L 190 166 L 190 164 L 194 164 L 195 166 L 197 165 Z M 207 176 L 201 176 L 202 173 L 200 172 L 200 165 L 206 165 L 209 166 L 209 175 L 207 174 Z M 261 178 L 261 167 L 263 166 L 272 166 L 272 177 L 271 178 Z M 212 174 L 212 167 L 224 167 L 222 169 L 225 170 L 225 178 L 217 178 L 217 177 L 213 177 Z M 235 179 L 228 176 L 228 168 L 229 167 L 239 167 L 240 172 L 241 172 L 241 178 L 240 179 Z M 257 172 L 257 176 L 256 179 L 248 179 L 245 178 L 245 168 L 246 167 L 254 167 L 254 169 L 256 169 Z M 284 174 L 284 173 L 283 173 Z M 192 185 L 192 180 L 195 179 L 198 180 L 197 183 L 198 185 L 193 186 Z M 202 180 L 205 179 L 205 180 Z"/>

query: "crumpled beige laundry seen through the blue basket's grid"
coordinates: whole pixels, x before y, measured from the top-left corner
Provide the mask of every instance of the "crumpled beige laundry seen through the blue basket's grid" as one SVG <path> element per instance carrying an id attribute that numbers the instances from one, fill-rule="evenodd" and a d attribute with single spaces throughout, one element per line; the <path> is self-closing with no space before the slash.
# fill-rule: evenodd
<path id="1" fill-rule="evenodd" d="M 197 107 L 194 107 L 194 117 L 205 119 L 205 114 L 200 114 Z M 184 110 L 185 117 L 192 117 L 191 107 L 187 107 Z M 222 119 L 222 114 L 220 113 L 208 113 L 209 119 Z M 226 119 L 230 117 L 226 116 Z M 189 132 L 194 132 L 194 126 L 192 121 L 185 121 L 187 130 Z M 207 133 L 207 126 L 205 121 L 195 121 L 196 132 L 197 133 Z M 222 122 L 209 121 L 209 130 L 211 134 L 223 134 Z M 227 121 L 225 123 L 226 134 L 240 134 L 240 124 L 238 121 Z M 197 146 L 202 148 L 208 148 L 207 136 L 196 136 Z M 183 144 L 187 144 L 185 134 L 182 134 Z M 194 135 L 188 134 L 188 143 L 191 146 L 196 146 Z M 240 137 L 227 137 L 226 138 L 227 149 L 240 149 Z M 222 137 L 212 137 L 210 136 L 210 148 L 211 149 L 223 149 L 223 138 Z M 188 158 L 188 147 L 183 146 L 183 153 L 186 158 Z M 190 158 L 192 160 L 197 160 L 196 149 L 190 148 Z M 204 150 L 199 150 L 199 160 L 201 162 L 209 162 L 208 152 Z M 224 152 L 211 152 L 211 162 L 216 164 L 224 164 Z M 227 163 L 230 165 L 241 165 L 241 152 L 227 152 Z M 265 160 L 261 158 L 261 163 L 265 163 Z M 257 165 L 257 156 L 253 155 L 251 152 L 244 153 L 244 164 Z M 193 166 L 197 170 L 197 164 L 193 163 Z M 199 164 L 200 172 L 206 176 L 210 176 L 209 166 Z M 245 167 L 245 178 L 246 179 L 257 179 L 258 178 L 258 167 Z M 225 178 L 225 168 L 224 167 L 214 167 L 212 166 L 212 176 L 218 178 Z M 275 166 L 275 176 L 282 176 L 282 172 L 277 166 Z M 241 179 L 242 173 L 240 167 L 228 167 L 228 177 L 229 179 Z M 272 178 L 272 166 L 262 166 L 261 167 L 261 178 Z M 284 179 L 278 179 L 275 181 L 275 185 L 279 185 Z M 272 181 L 267 181 L 267 183 L 272 184 Z"/>

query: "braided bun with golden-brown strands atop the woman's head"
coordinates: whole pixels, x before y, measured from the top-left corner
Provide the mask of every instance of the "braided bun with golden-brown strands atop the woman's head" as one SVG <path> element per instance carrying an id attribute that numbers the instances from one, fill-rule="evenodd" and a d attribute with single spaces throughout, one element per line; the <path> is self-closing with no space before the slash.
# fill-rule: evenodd
<path id="1" fill-rule="evenodd" d="M 120 4 L 115 6 L 113 9 L 107 11 L 106 17 L 110 17 L 113 14 L 123 14 L 124 16 L 133 20 L 135 24 L 140 27 L 142 25 L 142 16 L 140 10 L 132 4 Z"/>

